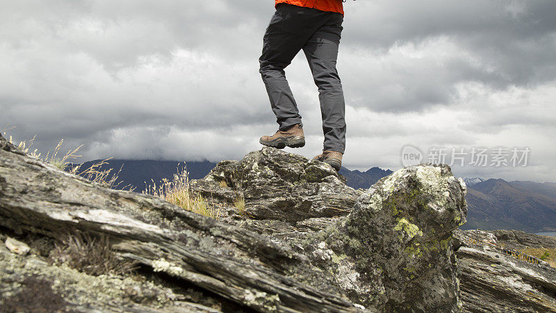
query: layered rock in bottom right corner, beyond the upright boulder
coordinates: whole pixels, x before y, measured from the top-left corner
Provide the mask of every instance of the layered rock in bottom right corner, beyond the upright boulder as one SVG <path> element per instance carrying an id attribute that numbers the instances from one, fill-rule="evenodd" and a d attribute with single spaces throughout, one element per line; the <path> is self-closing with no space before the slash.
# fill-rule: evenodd
<path id="1" fill-rule="evenodd" d="M 556 268 L 511 250 L 554 247 L 554 239 L 511 230 L 454 236 L 464 312 L 556 312 Z"/>

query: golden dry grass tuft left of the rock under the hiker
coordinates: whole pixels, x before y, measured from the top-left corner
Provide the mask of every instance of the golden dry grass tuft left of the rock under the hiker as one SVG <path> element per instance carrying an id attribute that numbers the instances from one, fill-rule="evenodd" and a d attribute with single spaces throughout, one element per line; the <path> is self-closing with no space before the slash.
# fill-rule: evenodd
<path id="1" fill-rule="evenodd" d="M 163 179 L 158 185 L 154 181 L 152 183 L 143 193 L 162 198 L 193 213 L 208 216 L 215 220 L 220 219 L 220 209 L 216 209 L 202 195 L 191 190 L 186 168 L 183 168 L 181 172 L 178 169 L 171 181 Z"/>

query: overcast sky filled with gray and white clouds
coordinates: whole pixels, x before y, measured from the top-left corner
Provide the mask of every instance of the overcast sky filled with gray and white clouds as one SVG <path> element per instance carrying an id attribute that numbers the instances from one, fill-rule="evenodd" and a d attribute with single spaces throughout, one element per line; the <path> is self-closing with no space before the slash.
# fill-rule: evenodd
<path id="1" fill-rule="evenodd" d="M 36 134 L 42 151 L 61 138 L 64 150 L 83 145 L 83 161 L 240 159 L 277 130 L 258 72 L 273 5 L 0 0 L 0 130 L 15 126 L 5 131 L 16 141 Z M 525 167 L 466 159 L 453 170 L 556 181 L 555 0 L 344 7 L 343 166 L 396 170 L 406 145 L 423 161 L 439 147 L 448 157 L 483 147 L 490 158 L 498 147 L 528 147 Z M 303 54 L 286 75 L 307 141 L 286 150 L 313 157 L 322 150 L 320 107 Z"/>

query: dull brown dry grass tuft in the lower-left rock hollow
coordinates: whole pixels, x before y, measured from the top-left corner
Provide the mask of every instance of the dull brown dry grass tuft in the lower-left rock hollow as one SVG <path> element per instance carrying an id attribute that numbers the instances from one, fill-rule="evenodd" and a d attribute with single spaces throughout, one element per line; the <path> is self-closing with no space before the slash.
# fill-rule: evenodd
<path id="1" fill-rule="evenodd" d="M 49 258 L 54 264 L 67 264 L 78 271 L 95 276 L 124 275 L 138 268 L 137 262 L 117 257 L 108 236 L 101 235 L 96 239 L 81 232 L 60 236 Z"/>

